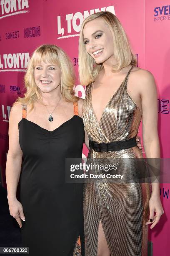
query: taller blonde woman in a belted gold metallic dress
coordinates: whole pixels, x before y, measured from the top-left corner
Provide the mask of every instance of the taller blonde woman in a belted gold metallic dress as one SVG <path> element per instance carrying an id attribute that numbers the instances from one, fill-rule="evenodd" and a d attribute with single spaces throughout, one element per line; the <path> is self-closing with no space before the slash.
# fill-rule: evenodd
<path id="1" fill-rule="evenodd" d="M 89 85 L 82 107 L 90 142 L 87 161 L 143 158 L 135 145 L 141 118 L 146 157 L 160 158 L 155 81 L 136 67 L 125 31 L 112 13 L 95 13 L 82 23 L 79 75 L 81 84 Z M 138 169 L 124 165 L 118 172 L 135 177 Z M 153 228 L 163 212 L 156 182 L 152 192 L 149 183 L 87 183 L 85 255 L 147 256 L 147 225 Z"/>

